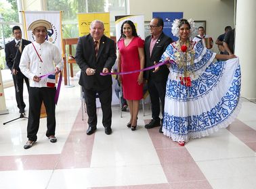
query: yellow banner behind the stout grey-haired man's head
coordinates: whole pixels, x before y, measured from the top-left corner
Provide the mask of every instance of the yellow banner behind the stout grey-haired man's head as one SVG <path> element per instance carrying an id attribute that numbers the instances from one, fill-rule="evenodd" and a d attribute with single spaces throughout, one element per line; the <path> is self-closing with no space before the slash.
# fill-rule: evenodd
<path id="1" fill-rule="evenodd" d="M 77 14 L 79 22 L 79 36 L 84 36 L 90 32 L 90 24 L 93 20 L 101 20 L 104 23 L 104 34 L 110 37 L 110 14 L 108 13 L 88 13 Z"/>

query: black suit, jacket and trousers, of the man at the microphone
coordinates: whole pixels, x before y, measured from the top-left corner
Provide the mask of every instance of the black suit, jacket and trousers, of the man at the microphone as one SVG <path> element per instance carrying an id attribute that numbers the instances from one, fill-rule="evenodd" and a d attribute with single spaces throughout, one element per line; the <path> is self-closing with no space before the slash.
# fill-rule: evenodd
<path id="1" fill-rule="evenodd" d="M 22 39 L 22 51 L 23 51 L 24 47 L 26 45 L 28 45 L 29 43 L 31 43 L 31 42 Z M 17 57 L 16 57 L 16 59 L 14 59 L 14 57 L 16 56 L 16 53 L 17 53 Z M 26 82 L 27 88 L 29 88 L 28 78 L 26 78 L 26 76 L 24 76 L 22 74 L 22 72 L 20 72 L 20 68 L 19 68 L 21 55 L 22 55 L 22 52 L 20 52 L 18 50 L 18 47 L 16 47 L 15 40 L 10 41 L 9 43 L 7 43 L 5 45 L 5 60 L 6 60 L 6 64 L 7 64 L 8 68 L 10 70 L 12 70 L 12 68 L 14 67 L 14 69 L 18 71 L 17 75 L 12 75 L 12 77 L 14 79 L 14 86 L 16 89 L 15 90 L 16 101 L 17 101 L 18 108 L 20 109 L 20 113 L 24 112 L 24 108 L 26 107 L 26 105 L 23 101 L 23 82 L 24 82 L 24 80 Z M 14 65 L 14 63 L 15 63 L 15 65 Z M 18 92 L 17 88 L 18 88 L 19 92 Z"/>

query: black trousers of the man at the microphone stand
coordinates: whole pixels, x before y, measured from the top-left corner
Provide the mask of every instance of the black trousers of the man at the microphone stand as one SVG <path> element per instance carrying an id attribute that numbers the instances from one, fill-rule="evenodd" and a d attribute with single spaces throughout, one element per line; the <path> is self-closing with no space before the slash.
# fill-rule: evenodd
<path id="1" fill-rule="evenodd" d="M 23 85 L 25 80 L 26 87 L 29 89 L 28 78 L 26 78 L 26 76 L 24 76 L 22 73 L 18 73 L 17 75 L 12 75 L 12 78 L 14 79 L 17 107 L 20 110 L 24 110 L 26 105 L 23 100 Z"/>

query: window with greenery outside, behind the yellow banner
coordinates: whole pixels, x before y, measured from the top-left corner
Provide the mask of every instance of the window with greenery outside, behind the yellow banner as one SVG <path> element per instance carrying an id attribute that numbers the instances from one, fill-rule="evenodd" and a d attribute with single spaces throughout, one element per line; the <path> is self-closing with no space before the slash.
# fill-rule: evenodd
<path id="1" fill-rule="evenodd" d="M 115 35 L 114 16 L 126 15 L 127 0 L 47 0 L 48 11 L 64 11 L 62 14 L 63 38 L 79 36 L 77 14 L 110 12 L 110 35 Z"/>

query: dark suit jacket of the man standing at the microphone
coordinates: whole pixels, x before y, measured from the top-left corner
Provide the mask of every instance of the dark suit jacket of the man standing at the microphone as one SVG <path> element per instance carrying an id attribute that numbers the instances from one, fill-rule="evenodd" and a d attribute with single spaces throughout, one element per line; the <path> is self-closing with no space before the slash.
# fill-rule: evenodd
<path id="1" fill-rule="evenodd" d="M 31 42 L 22 38 L 22 51 L 23 51 L 24 47 L 26 45 L 28 45 L 29 43 L 31 43 Z M 15 40 L 10 41 L 9 43 L 7 43 L 5 45 L 5 61 L 6 61 L 6 64 L 9 68 L 9 70 L 12 70 L 12 66 L 14 65 L 14 57 L 15 57 L 17 49 L 18 49 L 18 47 L 15 47 L 15 45 L 16 45 Z M 22 55 L 22 53 L 20 53 L 20 51 L 18 51 L 16 60 L 15 60 L 14 69 L 18 70 L 18 73 L 21 73 L 20 67 L 19 67 L 21 55 Z"/>

